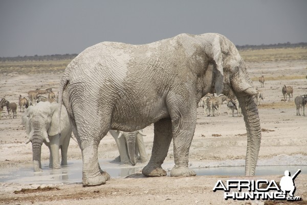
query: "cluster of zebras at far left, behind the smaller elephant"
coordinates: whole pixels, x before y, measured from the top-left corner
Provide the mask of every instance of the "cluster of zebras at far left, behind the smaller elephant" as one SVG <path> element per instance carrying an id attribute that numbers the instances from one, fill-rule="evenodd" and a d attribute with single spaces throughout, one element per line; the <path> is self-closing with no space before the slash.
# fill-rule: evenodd
<path id="1" fill-rule="evenodd" d="M 48 94 L 48 97 L 42 96 L 42 94 Z M 25 108 L 33 106 L 36 103 L 39 103 L 39 101 L 44 101 L 44 102 L 49 101 L 49 103 L 54 103 L 57 101 L 57 98 L 54 92 L 52 92 L 51 88 L 48 88 L 46 90 L 39 90 L 39 89 L 30 90 L 28 92 L 28 97 L 29 100 L 26 97 L 21 97 L 21 95 L 19 95 L 18 98 L 19 112 L 21 112 L 21 109 L 23 110 L 23 112 L 25 112 Z M 12 118 L 17 117 L 17 104 L 10 103 L 5 98 L 2 98 L 0 101 L 0 119 L 2 117 L 2 111 L 5 106 L 7 107 L 7 115 L 10 115 L 11 113 Z"/>

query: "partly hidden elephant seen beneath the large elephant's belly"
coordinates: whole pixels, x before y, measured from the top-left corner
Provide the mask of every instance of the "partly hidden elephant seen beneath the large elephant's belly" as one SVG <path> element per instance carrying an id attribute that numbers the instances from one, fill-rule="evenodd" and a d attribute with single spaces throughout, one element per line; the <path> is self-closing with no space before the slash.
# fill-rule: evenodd
<path id="1" fill-rule="evenodd" d="M 134 132 L 109 130 L 109 132 L 116 141 L 121 162 L 130 162 L 134 166 L 136 165 L 138 158 L 141 162 L 147 161 L 147 154 L 143 140 L 143 136 L 146 135 L 143 134 L 142 130 Z"/>

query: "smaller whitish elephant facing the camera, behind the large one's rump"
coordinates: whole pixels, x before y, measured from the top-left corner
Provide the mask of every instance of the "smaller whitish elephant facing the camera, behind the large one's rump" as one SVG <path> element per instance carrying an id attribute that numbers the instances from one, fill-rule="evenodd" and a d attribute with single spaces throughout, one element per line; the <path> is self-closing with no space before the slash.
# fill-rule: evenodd
<path id="1" fill-rule="evenodd" d="M 42 142 L 50 151 L 49 167 L 61 168 L 59 162 L 59 148 L 61 149 L 61 165 L 67 165 L 67 150 L 72 134 L 72 128 L 68 119 L 67 111 L 61 109 L 61 120 L 58 121 L 58 104 L 39 102 L 36 106 L 30 106 L 23 115 L 22 124 L 26 127 L 29 135 L 26 144 L 32 142 L 34 172 L 41 171 L 41 146 Z M 58 134 L 59 124 L 61 125 Z"/>

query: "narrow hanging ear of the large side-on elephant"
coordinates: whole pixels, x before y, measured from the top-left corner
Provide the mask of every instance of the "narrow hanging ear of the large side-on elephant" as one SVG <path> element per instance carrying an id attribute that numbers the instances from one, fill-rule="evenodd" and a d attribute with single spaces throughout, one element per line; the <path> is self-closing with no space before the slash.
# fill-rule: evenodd
<path id="1" fill-rule="evenodd" d="M 220 95 L 224 89 L 223 54 L 221 46 L 220 36 L 217 35 L 214 37 L 212 43 L 213 60 L 216 66 L 214 88 L 217 95 Z"/>

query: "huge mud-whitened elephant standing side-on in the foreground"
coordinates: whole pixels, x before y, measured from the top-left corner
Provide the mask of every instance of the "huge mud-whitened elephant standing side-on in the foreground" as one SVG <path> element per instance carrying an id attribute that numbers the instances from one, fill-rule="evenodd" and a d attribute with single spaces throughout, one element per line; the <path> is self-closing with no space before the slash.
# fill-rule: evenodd
<path id="1" fill-rule="evenodd" d="M 152 123 L 152 153 L 142 173 L 166 175 L 161 165 L 173 139 L 170 176 L 195 175 L 188 168 L 189 148 L 198 102 L 208 92 L 238 98 L 247 129 L 245 173 L 254 175 L 261 140 L 257 91 L 228 38 L 180 34 L 145 45 L 103 42 L 81 52 L 60 80 L 59 104 L 80 144 L 83 186 L 105 183 L 98 145 L 109 129 L 131 132 Z"/>

